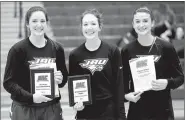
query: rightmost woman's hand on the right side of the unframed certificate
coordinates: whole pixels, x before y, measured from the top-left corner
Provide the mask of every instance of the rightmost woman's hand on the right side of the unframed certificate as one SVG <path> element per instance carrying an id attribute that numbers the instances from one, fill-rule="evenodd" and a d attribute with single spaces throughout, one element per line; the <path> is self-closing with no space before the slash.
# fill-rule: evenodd
<path id="1" fill-rule="evenodd" d="M 166 89 L 168 85 L 167 79 L 158 79 L 152 81 L 152 90 L 159 91 Z"/>

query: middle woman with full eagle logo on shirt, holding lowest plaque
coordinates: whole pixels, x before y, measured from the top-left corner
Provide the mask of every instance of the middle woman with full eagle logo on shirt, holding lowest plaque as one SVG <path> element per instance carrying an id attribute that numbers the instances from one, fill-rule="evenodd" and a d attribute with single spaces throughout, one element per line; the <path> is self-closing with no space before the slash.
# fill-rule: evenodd
<path id="1" fill-rule="evenodd" d="M 76 103 L 76 118 L 124 120 L 124 86 L 119 49 L 99 38 L 102 17 L 96 9 L 82 14 L 81 27 L 86 41 L 70 53 L 69 74 L 90 75 L 92 104 L 84 106 L 82 102 Z"/>

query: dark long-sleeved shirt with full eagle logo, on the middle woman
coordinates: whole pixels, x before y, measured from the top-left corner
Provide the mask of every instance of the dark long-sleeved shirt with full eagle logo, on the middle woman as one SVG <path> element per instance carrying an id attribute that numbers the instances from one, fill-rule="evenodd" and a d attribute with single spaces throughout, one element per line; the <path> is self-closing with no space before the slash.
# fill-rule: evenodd
<path id="1" fill-rule="evenodd" d="M 118 117 L 122 119 L 125 117 L 124 86 L 121 73 L 122 63 L 119 49 L 104 41 L 95 51 L 89 51 L 83 43 L 70 53 L 69 74 L 90 74 L 91 76 L 93 104 L 85 106 L 82 111 L 78 111 L 78 118 L 98 117 L 98 112 L 100 112 L 103 104 L 98 106 L 96 103 L 107 99 L 114 100 L 119 110 L 117 112 Z"/>

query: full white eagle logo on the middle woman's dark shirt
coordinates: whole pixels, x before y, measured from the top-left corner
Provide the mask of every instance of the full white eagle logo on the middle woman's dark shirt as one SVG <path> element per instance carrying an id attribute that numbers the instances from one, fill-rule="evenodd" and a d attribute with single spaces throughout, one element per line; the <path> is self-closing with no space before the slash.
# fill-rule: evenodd
<path id="1" fill-rule="evenodd" d="M 84 62 L 80 63 L 79 65 L 82 68 L 87 68 L 88 70 L 90 70 L 93 75 L 95 71 L 102 71 L 107 61 L 108 58 L 87 59 L 84 60 Z"/>

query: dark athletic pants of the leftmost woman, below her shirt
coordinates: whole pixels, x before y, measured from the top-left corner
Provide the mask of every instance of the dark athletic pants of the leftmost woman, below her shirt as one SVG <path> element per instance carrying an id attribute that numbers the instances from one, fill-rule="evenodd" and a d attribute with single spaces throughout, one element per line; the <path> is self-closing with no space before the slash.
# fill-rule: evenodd
<path id="1" fill-rule="evenodd" d="M 12 103 L 11 120 L 63 120 L 60 102 L 44 107 L 28 107 Z"/>

